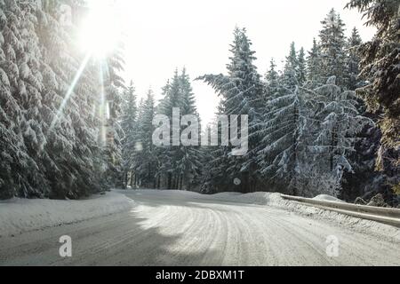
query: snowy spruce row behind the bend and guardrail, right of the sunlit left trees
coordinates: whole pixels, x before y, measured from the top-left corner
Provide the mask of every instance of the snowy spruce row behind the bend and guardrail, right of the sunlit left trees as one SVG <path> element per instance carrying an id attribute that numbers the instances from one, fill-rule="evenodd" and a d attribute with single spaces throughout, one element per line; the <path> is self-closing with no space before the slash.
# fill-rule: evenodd
<path id="1" fill-rule="evenodd" d="M 356 2 L 349 5 L 364 12 L 367 9 Z M 186 70 L 181 74 L 177 71 L 166 84 L 164 99 L 158 105 L 150 96 L 146 102 L 151 101 L 151 107 L 141 102 L 138 109 L 133 88 L 129 88 L 124 105 L 133 111 L 125 109 L 123 122 L 130 113 L 142 112 L 147 119 L 130 119 L 126 124 L 127 132 L 134 127 L 138 130 L 126 137 L 123 147 L 127 151 L 125 185 L 204 193 L 328 193 L 349 201 L 384 193 L 394 202 L 398 151 L 384 146 L 387 138 L 379 127 L 383 108 L 376 114 L 362 96 L 373 78 L 363 75 L 363 49 L 370 43 L 362 43 L 356 28 L 346 37 L 346 26 L 334 10 L 321 24 L 308 54 L 303 48 L 296 50 L 292 43 L 283 69 L 278 70 L 272 59 L 266 75 L 260 75 L 254 64 L 255 51 L 246 30 L 236 28 L 228 74 L 196 78 L 220 95 L 218 114 L 249 115 L 250 148 L 245 156 L 232 156 L 231 146 L 152 145 L 155 126 L 150 118 L 156 114 L 172 117 L 173 107 L 184 109 L 182 115 L 196 114 Z M 203 130 L 209 126 L 203 125 Z M 382 159 L 390 162 L 377 171 Z"/>

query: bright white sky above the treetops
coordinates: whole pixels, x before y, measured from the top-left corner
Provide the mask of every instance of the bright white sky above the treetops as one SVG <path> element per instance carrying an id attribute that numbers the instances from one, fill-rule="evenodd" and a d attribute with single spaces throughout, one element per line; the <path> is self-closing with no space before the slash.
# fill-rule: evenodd
<path id="1" fill-rule="evenodd" d="M 133 80 L 138 96 L 151 86 L 157 99 L 176 67 L 187 67 L 192 79 L 226 73 L 236 25 L 247 28 L 261 74 L 271 58 L 284 59 L 292 41 L 308 50 L 332 7 L 347 24 L 347 34 L 356 27 L 364 40 L 373 36 L 358 12 L 343 10 L 348 0 L 116 1 L 126 41 L 125 79 Z M 194 82 L 193 88 L 208 122 L 219 99 L 204 83 Z"/>

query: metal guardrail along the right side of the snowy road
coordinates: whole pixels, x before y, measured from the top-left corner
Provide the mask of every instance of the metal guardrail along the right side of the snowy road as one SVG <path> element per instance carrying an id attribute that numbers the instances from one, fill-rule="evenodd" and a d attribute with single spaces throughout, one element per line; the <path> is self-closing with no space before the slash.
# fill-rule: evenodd
<path id="1" fill-rule="evenodd" d="M 319 209 L 331 210 L 352 217 L 400 227 L 400 209 L 388 209 L 335 201 L 317 201 L 314 199 L 290 195 L 282 195 L 282 197 L 287 201 L 295 201 Z"/>

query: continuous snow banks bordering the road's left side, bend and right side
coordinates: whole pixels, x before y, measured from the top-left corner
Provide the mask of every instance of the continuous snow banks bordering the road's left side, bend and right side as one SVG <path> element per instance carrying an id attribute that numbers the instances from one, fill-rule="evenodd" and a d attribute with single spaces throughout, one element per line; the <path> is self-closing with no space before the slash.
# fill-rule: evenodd
<path id="1" fill-rule="evenodd" d="M 200 193 L 177 190 L 115 190 L 107 195 L 95 195 L 83 201 L 49 201 L 12 199 L 0 201 L 0 237 L 11 236 L 46 227 L 73 224 L 95 217 L 104 217 L 132 209 L 134 201 L 124 193 L 152 196 L 154 200 L 164 197 L 176 201 L 211 201 L 224 203 L 243 203 L 268 206 L 316 220 L 330 221 L 336 225 L 355 229 L 359 232 L 368 230 L 383 237 L 400 240 L 400 230 L 396 227 L 377 222 L 349 217 L 326 209 L 309 207 L 298 202 L 286 201 L 280 193 Z M 332 196 L 317 196 L 316 200 L 340 201 Z M 342 202 L 342 201 L 340 201 Z"/>

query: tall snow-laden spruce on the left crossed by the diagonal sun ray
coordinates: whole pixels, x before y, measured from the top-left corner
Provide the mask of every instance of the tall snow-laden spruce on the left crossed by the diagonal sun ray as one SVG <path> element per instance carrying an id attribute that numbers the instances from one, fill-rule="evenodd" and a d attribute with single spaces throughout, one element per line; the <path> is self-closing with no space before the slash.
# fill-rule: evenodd
<path id="1" fill-rule="evenodd" d="M 44 3 L 45 4 L 45 3 Z M 73 11 L 81 7 L 68 2 Z M 76 51 L 74 23 L 65 26 L 59 19 L 60 1 L 46 11 L 39 10 L 38 32 L 44 53 L 44 120 L 47 155 L 44 170 L 52 185 L 52 198 L 79 198 L 100 190 L 100 149 L 96 130 L 100 123 L 93 115 L 100 98 L 99 72 L 88 62 L 74 85 L 85 59 Z"/>

